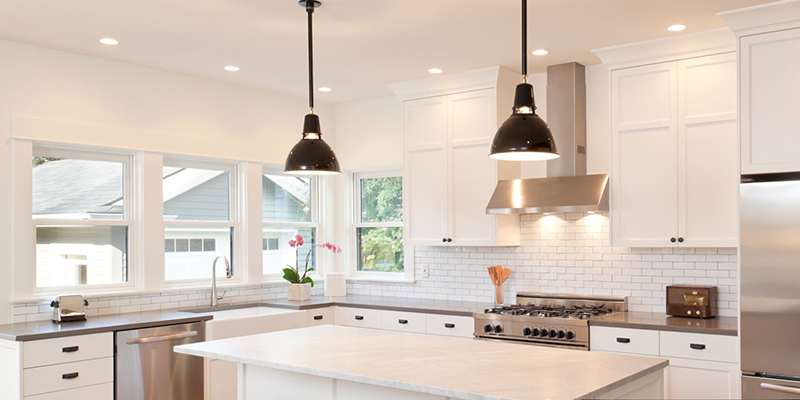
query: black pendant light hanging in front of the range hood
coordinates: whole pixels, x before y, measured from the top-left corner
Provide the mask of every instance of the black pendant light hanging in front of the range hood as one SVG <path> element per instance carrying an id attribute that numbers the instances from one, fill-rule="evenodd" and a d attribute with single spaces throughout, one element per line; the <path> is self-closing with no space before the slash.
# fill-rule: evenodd
<path id="1" fill-rule="evenodd" d="M 492 140 L 489 157 L 508 161 L 538 161 L 558 158 L 553 133 L 536 115 L 533 86 L 528 83 L 528 2 L 522 0 L 522 83 L 514 94 L 514 107 Z"/>

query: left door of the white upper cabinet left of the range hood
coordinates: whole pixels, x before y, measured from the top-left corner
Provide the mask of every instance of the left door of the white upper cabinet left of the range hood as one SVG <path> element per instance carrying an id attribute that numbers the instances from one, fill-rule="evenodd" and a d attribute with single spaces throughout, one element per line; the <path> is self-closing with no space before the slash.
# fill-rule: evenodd
<path id="1" fill-rule="evenodd" d="M 443 244 L 447 214 L 447 97 L 404 104 L 404 235 L 409 246 Z"/>

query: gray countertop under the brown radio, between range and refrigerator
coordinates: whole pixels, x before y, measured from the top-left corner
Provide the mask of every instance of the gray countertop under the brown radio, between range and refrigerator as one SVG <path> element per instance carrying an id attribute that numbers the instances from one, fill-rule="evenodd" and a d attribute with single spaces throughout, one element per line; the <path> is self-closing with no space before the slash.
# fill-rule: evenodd
<path id="1" fill-rule="evenodd" d="M 629 311 L 592 318 L 593 326 L 612 326 L 618 328 L 650 329 L 714 335 L 736 336 L 738 321 L 736 317 L 716 317 L 711 319 L 670 317 L 661 313 Z"/>

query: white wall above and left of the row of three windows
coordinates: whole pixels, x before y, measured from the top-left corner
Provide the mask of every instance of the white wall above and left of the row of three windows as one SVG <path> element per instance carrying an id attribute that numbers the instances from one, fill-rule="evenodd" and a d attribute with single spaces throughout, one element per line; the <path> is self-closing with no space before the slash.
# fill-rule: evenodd
<path id="1" fill-rule="evenodd" d="M 12 135 L 282 164 L 307 112 L 304 98 L 16 42 L 0 40 L 0 60 L 0 323 L 12 319 Z M 316 111 L 336 148 L 334 108 Z M 119 129 L 65 137 L 20 117 Z"/>

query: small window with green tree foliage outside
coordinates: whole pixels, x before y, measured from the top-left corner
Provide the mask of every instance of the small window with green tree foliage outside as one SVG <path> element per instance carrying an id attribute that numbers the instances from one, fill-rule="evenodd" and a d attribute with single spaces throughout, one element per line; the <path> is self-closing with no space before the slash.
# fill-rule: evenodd
<path id="1" fill-rule="evenodd" d="M 354 179 L 356 273 L 404 273 L 400 172 L 359 173 Z"/>

